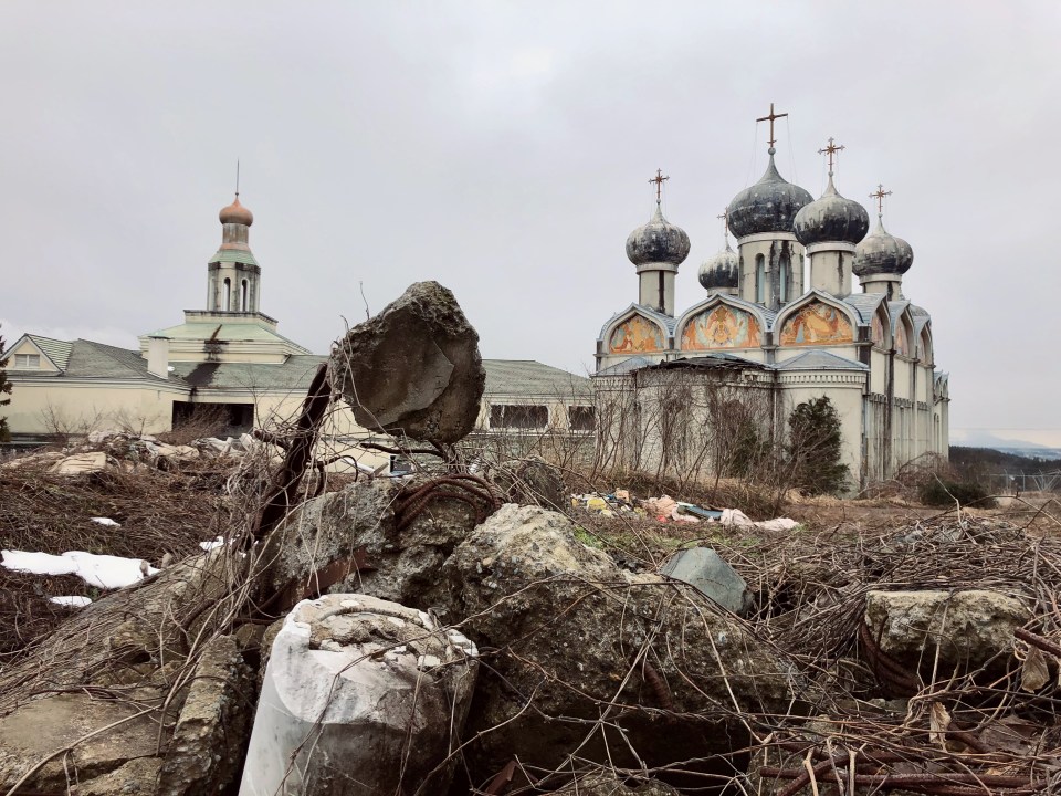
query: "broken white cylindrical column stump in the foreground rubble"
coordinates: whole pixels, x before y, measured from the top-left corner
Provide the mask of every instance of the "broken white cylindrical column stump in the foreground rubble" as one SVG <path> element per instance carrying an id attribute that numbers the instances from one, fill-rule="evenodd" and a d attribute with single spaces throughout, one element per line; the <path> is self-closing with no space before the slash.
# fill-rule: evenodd
<path id="1" fill-rule="evenodd" d="M 241 796 L 445 793 L 476 658 L 395 603 L 298 604 L 269 658 Z"/>

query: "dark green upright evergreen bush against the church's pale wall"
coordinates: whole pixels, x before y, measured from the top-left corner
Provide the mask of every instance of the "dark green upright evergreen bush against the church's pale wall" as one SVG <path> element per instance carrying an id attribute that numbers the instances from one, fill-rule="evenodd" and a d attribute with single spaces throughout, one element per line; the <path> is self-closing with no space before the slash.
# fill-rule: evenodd
<path id="1" fill-rule="evenodd" d="M 788 454 L 794 485 L 807 494 L 843 490 L 848 465 L 840 463 L 840 416 L 828 397 L 812 398 L 788 416 Z"/>

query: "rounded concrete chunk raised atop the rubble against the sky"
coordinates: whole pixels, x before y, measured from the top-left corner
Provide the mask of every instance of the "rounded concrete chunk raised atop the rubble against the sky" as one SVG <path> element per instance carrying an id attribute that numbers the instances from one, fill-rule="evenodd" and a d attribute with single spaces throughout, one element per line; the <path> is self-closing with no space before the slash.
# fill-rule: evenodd
<path id="1" fill-rule="evenodd" d="M 410 285 L 351 328 L 332 360 L 354 417 L 367 429 L 456 442 L 475 426 L 486 384 L 479 334 L 437 282 Z"/>

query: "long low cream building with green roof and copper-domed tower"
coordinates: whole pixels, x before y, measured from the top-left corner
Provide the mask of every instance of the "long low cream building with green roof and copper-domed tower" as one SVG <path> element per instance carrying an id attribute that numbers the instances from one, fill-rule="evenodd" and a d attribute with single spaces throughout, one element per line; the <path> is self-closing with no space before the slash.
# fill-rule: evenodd
<path id="1" fill-rule="evenodd" d="M 10 447 L 25 449 L 92 431 L 160 433 L 209 412 L 231 434 L 290 421 L 326 356 L 282 336 L 260 311 L 261 268 L 251 252 L 250 210 L 235 201 L 220 213 L 222 241 L 207 266 L 206 310 L 139 338 L 128 350 L 92 341 L 25 334 L 4 353 L 12 384 L 3 408 Z M 591 422 L 589 379 L 537 362 L 485 360 L 480 437 L 559 440 Z M 589 412 L 589 415 L 587 415 Z M 376 469 L 385 453 L 356 449 L 372 433 L 340 405 L 325 444 Z"/>

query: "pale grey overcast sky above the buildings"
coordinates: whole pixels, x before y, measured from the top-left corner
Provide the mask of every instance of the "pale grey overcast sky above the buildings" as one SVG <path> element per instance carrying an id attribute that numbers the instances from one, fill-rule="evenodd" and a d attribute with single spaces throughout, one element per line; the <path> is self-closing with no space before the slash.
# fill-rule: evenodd
<path id="1" fill-rule="evenodd" d="M 437 280 L 483 356 L 585 374 L 649 178 L 692 240 L 681 312 L 773 102 L 787 179 L 819 196 L 832 136 L 841 193 L 893 191 L 953 438 L 1061 446 L 1059 40 L 1054 0 L 7 0 L 0 334 L 134 348 L 204 308 L 239 160 L 285 336 L 324 353 Z"/>

